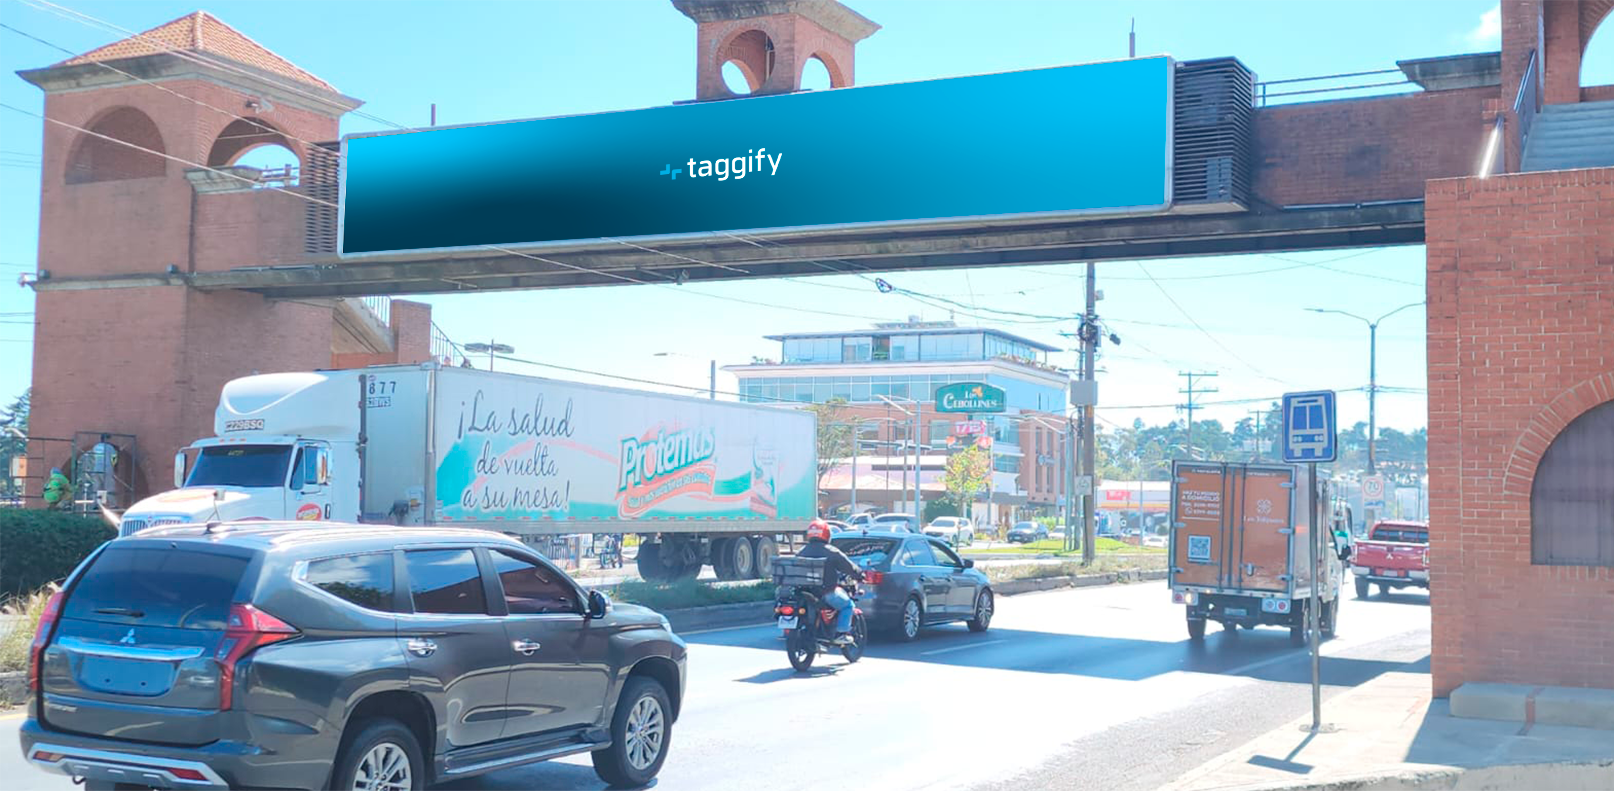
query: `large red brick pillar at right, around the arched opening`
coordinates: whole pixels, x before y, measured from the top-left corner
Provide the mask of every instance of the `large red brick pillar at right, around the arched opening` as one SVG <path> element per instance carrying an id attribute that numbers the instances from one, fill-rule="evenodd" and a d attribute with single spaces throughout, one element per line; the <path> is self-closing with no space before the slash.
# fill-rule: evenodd
<path id="1" fill-rule="evenodd" d="M 1432 181 L 1433 686 L 1614 688 L 1614 568 L 1533 565 L 1551 439 L 1614 400 L 1614 168 Z"/>

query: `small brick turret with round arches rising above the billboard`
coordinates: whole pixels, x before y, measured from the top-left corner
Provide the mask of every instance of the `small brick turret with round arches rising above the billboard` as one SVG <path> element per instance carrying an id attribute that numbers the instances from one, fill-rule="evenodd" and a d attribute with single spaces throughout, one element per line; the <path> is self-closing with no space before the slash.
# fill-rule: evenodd
<path id="1" fill-rule="evenodd" d="M 802 69 L 818 60 L 830 87 L 852 84 L 852 50 L 880 29 L 836 0 L 673 0 L 696 21 L 696 100 L 733 98 L 723 65 L 734 63 L 749 95 L 801 90 Z"/>

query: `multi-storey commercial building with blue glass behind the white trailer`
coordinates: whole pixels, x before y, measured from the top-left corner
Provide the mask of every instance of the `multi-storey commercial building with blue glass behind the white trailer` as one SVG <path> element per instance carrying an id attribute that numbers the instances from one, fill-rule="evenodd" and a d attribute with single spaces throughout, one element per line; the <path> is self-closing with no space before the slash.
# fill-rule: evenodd
<path id="1" fill-rule="evenodd" d="M 844 418 L 859 425 L 862 437 L 859 505 L 912 507 L 912 483 L 905 479 L 910 473 L 902 457 L 912 470 L 915 416 L 918 444 L 926 449 L 918 476 L 925 500 L 944 496 L 941 476 L 947 441 L 967 429 L 960 423 L 975 418 L 985 423 L 980 428 L 991 437 L 993 520 L 1002 523 L 1027 512 L 1052 513 L 1060 504 L 1062 471 L 1070 462 L 1068 449 L 1062 447 L 1070 375 L 1047 362 L 1049 352 L 1059 347 L 1001 329 L 917 316 L 870 329 L 767 337 L 780 344 L 778 358 L 725 368 L 739 379 L 741 400 L 846 402 Z M 955 383 L 1002 389 L 1006 410 L 999 415 L 938 412 L 936 389 Z M 851 502 L 851 467 L 847 458 L 823 476 L 820 489 L 831 510 Z M 985 497 L 976 515 L 986 517 Z"/>

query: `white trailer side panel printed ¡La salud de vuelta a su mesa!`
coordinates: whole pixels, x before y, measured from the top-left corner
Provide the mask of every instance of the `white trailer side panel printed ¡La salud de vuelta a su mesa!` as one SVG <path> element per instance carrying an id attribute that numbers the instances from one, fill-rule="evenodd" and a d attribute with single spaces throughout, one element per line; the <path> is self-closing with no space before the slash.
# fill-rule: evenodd
<path id="1" fill-rule="evenodd" d="M 810 415 L 471 371 L 436 386 L 442 521 L 813 517 L 812 465 L 781 463 L 812 458 Z"/>

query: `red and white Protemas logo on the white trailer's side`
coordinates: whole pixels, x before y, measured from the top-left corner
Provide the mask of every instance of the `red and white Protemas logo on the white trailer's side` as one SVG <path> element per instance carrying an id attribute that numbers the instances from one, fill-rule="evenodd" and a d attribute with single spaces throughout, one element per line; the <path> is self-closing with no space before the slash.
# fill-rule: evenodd
<path id="1" fill-rule="evenodd" d="M 621 441 L 617 478 L 618 512 L 638 517 L 655 504 L 688 492 L 712 494 L 717 479 L 717 433 L 710 428 L 657 428 Z"/>

